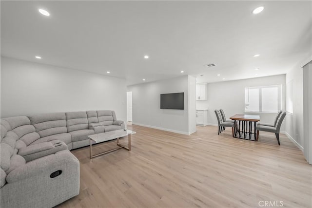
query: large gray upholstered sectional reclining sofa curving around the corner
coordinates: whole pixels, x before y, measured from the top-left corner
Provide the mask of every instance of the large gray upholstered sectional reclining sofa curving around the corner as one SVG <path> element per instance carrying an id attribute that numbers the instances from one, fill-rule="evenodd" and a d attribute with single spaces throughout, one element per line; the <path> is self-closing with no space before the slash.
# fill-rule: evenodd
<path id="1" fill-rule="evenodd" d="M 88 135 L 123 129 L 114 111 L 44 113 L 1 119 L 1 208 L 54 207 L 79 194 L 70 152 Z"/>

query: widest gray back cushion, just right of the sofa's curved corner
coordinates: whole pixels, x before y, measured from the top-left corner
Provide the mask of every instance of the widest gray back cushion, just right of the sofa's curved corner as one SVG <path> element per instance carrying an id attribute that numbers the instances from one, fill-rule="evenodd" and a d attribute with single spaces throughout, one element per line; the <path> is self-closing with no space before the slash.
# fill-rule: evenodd
<path id="1" fill-rule="evenodd" d="M 31 124 L 40 138 L 59 133 L 67 133 L 65 113 L 41 113 L 29 115 Z"/>

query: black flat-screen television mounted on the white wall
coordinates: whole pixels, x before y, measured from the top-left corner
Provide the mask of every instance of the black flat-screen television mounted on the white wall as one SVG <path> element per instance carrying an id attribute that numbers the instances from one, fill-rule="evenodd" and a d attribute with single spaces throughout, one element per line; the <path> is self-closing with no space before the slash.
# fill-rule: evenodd
<path id="1" fill-rule="evenodd" d="M 184 110 L 184 93 L 161 94 L 160 109 Z"/>

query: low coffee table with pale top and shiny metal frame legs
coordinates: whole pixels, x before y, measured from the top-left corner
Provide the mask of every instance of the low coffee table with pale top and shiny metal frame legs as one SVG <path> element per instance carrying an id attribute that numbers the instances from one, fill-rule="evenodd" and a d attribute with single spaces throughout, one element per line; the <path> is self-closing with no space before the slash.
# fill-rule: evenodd
<path id="1" fill-rule="evenodd" d="M 106 153 L 109 153 L 112 151 L 119 150 L 120 148 L 124 148 L 128 151 L 131 151 L 131 134 L 134 134 L 134 133 L 136 133 L 136 132 L 128 130 L 128 129 L 125 129 L 125 130 L 121 129 L 121 130 L 116 130 L 116 131 L 112 131 L 112 132 L 104 132 L 104 133 L 98 133 L 98 134 L 93 134 L 93 135 L 88 136 L 90 138 L 90 159 L 97 157 L 99 155 L 102 155 L 102 154 L 106 154 Z M 128 135 L 128 147 L 120 145 L 119 144 L 119 138 L 127 136 L 127 135 Z M 117 145 L 119 147 L 117 147 L 113 150 L 104 151 L 104 152 L 101 152 L 99 154 L 92 155 L 92 144 L 97 144 L 100 142 L 106 142 L 106 141 L 110 141 L 110 140 L 114 140 L 114 139 L 117 139 Z"/>

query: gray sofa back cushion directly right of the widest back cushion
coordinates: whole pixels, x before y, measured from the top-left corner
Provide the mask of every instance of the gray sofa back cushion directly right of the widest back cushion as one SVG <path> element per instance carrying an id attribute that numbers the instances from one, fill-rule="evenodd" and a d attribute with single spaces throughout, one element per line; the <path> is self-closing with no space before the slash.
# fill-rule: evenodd
<path id="1" fill-rule="evenodd" d="M 67 121 L 68 132 L 89 129 L 87 112 L 85 111 L 67 112 L 66 121 Z"/>

